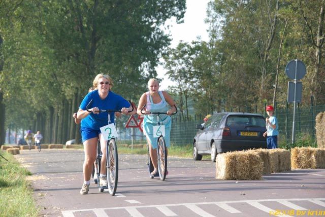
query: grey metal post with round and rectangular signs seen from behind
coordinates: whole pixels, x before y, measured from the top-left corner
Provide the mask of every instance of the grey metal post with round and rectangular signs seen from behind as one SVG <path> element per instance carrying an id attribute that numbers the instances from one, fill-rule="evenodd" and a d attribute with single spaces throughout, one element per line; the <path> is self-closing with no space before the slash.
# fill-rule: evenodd
<path id="1" fill-rule="evenodd" d="M 294 87 L 292 86 L 292 82 L 288 83 L 288 102 L 292 102 L 292 98 L 293 98 L 293 102 L 294 102 L 294 120 L 293 120 L 293 136 L 291 139 L 291 143 L 295 143 L 295 128 L 296 128 L 296 102 L 300 102 L 301 101 L 301 92 L 302 92 L 302 84 L 301 82 L 298 82 L 298 80 L 304 78 L 305 74 L 306 74 L 306 66 L 305 64 L 298 59 L 295 60 L 291 60 L 290 62 L 288 62 L 288 64 L 285 67 L 285 72 L 286 75 L 290 78 L 294 80 Z M 294 89 L 294 91 L 292 91 Z M 300 92 L 298 93 L 297 90 L 299 90 Z M 294 96 L 292 96 L 294 94 Z M 300 96 L 300 98 L 299 98 Z"/>

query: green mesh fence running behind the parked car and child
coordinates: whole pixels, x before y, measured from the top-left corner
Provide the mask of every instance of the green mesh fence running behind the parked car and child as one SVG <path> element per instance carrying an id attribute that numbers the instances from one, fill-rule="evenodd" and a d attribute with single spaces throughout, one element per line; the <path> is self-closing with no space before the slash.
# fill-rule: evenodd
<path id="1" fill-rule="evenodd" d="M 315 118 L 320 112 L 325 111 L 325 105 L 311 105 L 308 107 L 301 107 L 299 104 L 296 107 L 296 127 L 295 135 L 298 137 L 309 137 L 313 141 L 316 140 L 315 136 Z M 255 111 L 250 111 L 255 113 Z M 265 111 L 259 112 L 266 117 Z M 286 105 L 284 109 L 278 109 L 275 112 L 275 116 L 278 119 L 279 127 L 279 142 L 291 143 L 292 130 L 293 130 L 293 106 Z M 193 116 L 192 121 L 184 121 L 179 116 L 173 117 L 172 130 L 171 130 L 171 143 L 184 146 L 186 144 L 192 144 L 193 137 L 197 133 L 197 124 L 203 123 L 203 116 Z M 144 143 L 145 137 L 143 133 L 134 128 L 133 134 L 129 128 L 121 128 L 119 131 L 119 140 L 131 140 L 133 137 L 134 143 Z M 133 135 L 133 136 L 132 136 Z"/>

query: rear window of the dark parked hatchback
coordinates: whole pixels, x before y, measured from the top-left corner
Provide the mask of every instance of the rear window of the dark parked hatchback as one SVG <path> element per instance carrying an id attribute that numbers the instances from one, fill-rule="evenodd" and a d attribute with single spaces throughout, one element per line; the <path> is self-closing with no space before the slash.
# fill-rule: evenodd
<path id="1" fill-rule="evenodd" d="M 226 126 L 265 127 L 265 120 L 262 116 L 232 115 L 228 117 Z"/>

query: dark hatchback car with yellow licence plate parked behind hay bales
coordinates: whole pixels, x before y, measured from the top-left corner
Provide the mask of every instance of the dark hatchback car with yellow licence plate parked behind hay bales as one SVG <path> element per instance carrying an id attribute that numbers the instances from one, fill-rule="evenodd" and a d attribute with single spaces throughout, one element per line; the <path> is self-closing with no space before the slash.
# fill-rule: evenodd
<path id="1" fill-rule="evenodd" d="M 215 162 L 218 153 L 267 148 L 265 118 L 251 113 L 217 113 L 205 124 L 197 125 L 193 139 L 193 159 L 211 155 Z"/>

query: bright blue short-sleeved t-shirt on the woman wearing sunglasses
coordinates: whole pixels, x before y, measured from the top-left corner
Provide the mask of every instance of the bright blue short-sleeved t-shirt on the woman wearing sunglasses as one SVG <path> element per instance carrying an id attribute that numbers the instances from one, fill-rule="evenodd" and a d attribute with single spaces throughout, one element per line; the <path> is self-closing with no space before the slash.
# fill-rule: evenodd
<path id="1" fill-rule="evenodd" d="M 85 98 L 82 100 L 79 108 L 86 110 L 87 104 L 92 99 L 92 102 L 89 105 L 89 108 L 98 107 L 100 110 L 121 110 L 123 107 L 129 107 L 130 103 L 121 97 L 120 95 L 115 94 L 112 91 L 109 91 L 108 96 L 105 99 L 101 99 L 98 90 L 91 91 L 88 93 Z M 114 112 L 110 113 L 111 123 L 114 123 Z M 108 113 L 103 112 L 100 114 L 90 113 L 86 118 L 81 120 L 81 130 L 100 130 L 101 127 L 108 124 Z"/>

